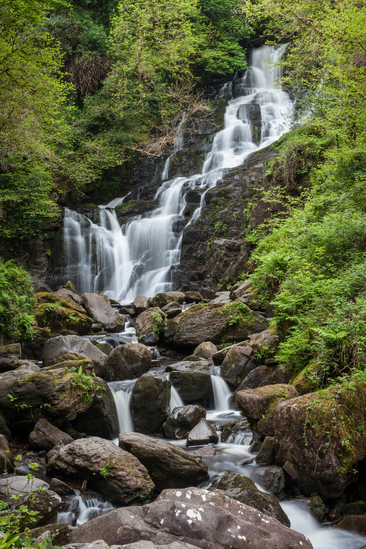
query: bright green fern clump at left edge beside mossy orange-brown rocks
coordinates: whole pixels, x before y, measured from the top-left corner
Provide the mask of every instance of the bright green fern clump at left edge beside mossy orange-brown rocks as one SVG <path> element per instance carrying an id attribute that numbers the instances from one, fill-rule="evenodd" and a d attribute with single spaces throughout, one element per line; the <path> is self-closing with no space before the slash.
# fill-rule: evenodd
<path id="1" fill-rule="evenodd" d="M 32 337 L 36 301 L 27 272 L 13 261 L 0 260 L 0 342 Z"/>

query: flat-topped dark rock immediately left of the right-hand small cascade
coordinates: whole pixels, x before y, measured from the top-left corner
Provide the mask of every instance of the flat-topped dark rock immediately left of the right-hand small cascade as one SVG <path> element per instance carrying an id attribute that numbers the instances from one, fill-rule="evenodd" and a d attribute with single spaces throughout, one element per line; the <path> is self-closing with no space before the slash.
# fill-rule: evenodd
<path id="1" fill-rule="evenodd" d="M 213 396 L 207 362 L 177 362 L 169 369 L 171 383 L 184 401 L 192 402 Z"/>

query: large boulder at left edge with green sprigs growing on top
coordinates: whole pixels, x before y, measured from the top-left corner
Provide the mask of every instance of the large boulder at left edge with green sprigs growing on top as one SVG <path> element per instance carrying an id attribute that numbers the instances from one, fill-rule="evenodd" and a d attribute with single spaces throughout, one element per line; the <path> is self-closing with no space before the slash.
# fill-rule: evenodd
<path id="1" fill-rule="evenodd" d="M 11 429 L 27 435 L 38 419 L 47 419 L 55 427 L 75 419 L 91 406 L 95 391 L 94 378 L 69 368 L 0 374 L 2 412 Z"/>

